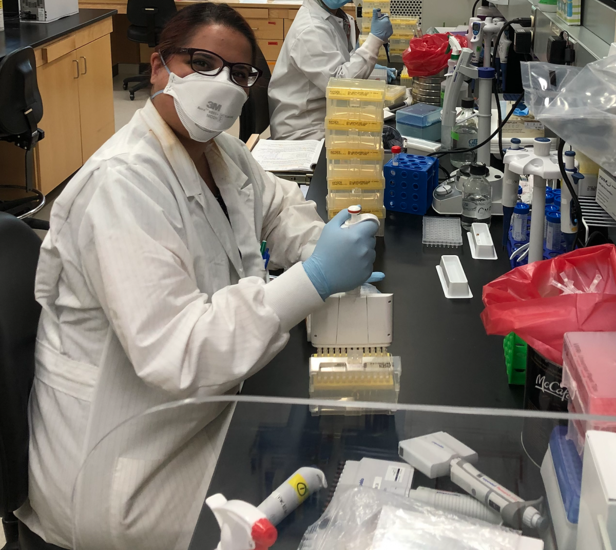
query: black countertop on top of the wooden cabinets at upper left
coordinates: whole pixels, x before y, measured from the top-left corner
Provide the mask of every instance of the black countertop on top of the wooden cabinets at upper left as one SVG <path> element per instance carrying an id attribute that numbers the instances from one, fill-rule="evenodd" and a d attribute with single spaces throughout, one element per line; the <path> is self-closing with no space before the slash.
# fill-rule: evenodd
<path id="1" fill-rule="evenodd" d="M 4 32 L 0 32 L 0 59 L 22 47 L 42 46 L 116 13 L 118 10 L 80 9 L 78 14 L 68 15 L 52 23 L 22 21 L 14 26 L 7 25 Z"/>

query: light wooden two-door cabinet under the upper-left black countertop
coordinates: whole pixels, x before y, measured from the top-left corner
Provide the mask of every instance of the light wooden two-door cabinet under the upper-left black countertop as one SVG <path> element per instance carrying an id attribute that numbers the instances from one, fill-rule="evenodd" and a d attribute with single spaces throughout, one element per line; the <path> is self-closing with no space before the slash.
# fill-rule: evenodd
<path id="1" fill-rule="evenodd" d="M 34 49 L 45 137 L 34 149 L 36 187 L 47 194 L 71 176 L 115 131 L 111 74 L 111 18 Z M 16 163 L 14 159 L 19 161 Z M 0 166 L 17 185 L 23 156 L 0 147 Z"/>

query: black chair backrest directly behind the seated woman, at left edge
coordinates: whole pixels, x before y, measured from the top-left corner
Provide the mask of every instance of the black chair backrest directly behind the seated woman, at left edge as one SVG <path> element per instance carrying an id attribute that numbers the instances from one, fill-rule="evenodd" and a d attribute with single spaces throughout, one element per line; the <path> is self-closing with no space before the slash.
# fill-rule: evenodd
<path id="1" fill-rule="evenodd" d="M 0 212 L 0 516 L 28 496 L 28 397 L 40 305 L 34 276 L 41 240 Z"/>

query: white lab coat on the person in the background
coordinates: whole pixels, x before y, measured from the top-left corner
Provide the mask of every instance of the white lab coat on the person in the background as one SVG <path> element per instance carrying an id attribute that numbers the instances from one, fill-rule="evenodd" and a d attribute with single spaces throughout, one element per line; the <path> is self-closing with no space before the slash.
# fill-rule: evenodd
<path id="1" fill-rule="evenodd" d="M 269 83 L 270 131 L 273 139 L 323 139 L 325 88 L 330 78 L 368 78 L 383 41 L 374 34 L 355 50 L 342 20 L 304 0 L 282 44 Z M 351 44 L 349 44 L 349 40 Z"/>

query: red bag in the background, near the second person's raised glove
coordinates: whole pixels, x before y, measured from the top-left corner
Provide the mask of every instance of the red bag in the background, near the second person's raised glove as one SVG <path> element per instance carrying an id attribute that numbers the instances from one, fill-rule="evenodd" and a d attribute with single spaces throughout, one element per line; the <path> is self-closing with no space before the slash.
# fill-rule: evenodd
<path id="1" fill-rule="evenodd" d="M 447 62 L 452 57 L 449 47 L 450 34 L 424 34 L 411 39 L 402 54 L 408 76 L 432 76 L 447 67 Z M 461 47 L 466 47 L 466 36 L 456 34 L 456 39 Z"/>

